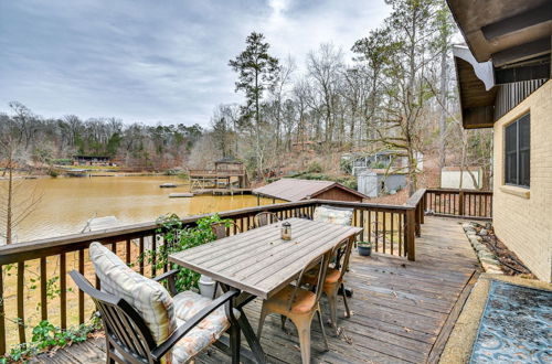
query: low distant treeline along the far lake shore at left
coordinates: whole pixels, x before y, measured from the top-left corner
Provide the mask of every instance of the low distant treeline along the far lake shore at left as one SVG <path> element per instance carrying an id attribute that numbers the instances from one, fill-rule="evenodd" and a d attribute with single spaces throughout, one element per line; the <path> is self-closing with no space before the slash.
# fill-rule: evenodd
<path id="1" fill-rule="evenodd" d="M 106 156 L 136 169 L 181 167 L 204 131 L 199 125 L 124 124 L 114 117 L 42 118 L 20 103 L 9 107 L 10 114 L 0 114 L 0 135 L 10 136 L 23 165 L 47 165 L 73 156 Z"/>

